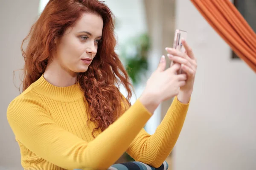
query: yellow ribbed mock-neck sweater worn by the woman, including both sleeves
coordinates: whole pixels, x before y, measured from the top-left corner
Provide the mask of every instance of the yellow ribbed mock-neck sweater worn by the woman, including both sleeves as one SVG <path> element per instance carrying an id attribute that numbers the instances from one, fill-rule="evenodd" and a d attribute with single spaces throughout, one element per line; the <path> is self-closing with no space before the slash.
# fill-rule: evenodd
<path id="1" fill-rule="evenodd" d="M 91 132 L 78 85 L 56 87 L 43 76 L 7 109 L 26 170 L 106 170 L 126 151 L 136 161 L 159 167 L 171 153 L 189 104 L 175 97 L 153 135 L 143 129 L 152 116 L 137 100 L 103 132 Z M 90 119 L 90 116 L 89 116 Z"/>

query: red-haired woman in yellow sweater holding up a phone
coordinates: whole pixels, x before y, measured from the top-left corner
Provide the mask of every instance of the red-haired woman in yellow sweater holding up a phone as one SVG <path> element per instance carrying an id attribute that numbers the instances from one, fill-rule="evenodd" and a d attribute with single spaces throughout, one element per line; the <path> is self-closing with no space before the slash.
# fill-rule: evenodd
<path id="1" fill-rule="evenodd" d="M 23 51 L 23 93 L 7 110 L 24 169 L 104 170 L 125 151 L 136 161 L 159 167 L 172 151 L 192 94 L 192 51 L 185 41 L 187 54 L 167 49 L 179 64 L 164 70 L 162 57 L 130 107 L 130 83 L 114 52 L 113 31 L 111 11 L 98 0 L 50 0 L 32 26 Z M 177 75 L 180 64 L 185 74 Z M 120 83 L 127 99 L 116 88 Z M 143 126 L 172 97 L 150 136 Z"/>

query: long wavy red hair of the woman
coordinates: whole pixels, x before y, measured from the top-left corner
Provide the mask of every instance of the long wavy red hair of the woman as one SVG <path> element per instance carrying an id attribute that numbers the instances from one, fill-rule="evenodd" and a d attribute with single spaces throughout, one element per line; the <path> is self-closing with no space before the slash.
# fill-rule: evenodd
<path id="1" fill-rule="evenodd" d="M 101 16 L 104 23 L 102 42 L 98 45 L 97 54 L 88 70 L 79 73 L 77 77 L 77 83 L 84 91 L 84 102 L 90 121 L 96 123 L 92 132 L 94 137 L 95 130 L 105 130 L 131 106 L 132 86 L 114 51 L 116 39 L 113 14 L 103 1 L 49 0 L 21 45 L 25 60 L 22 85 L 24 91 L 41 77 L 47 64 L 53 59 L 54 39 L 61 37 L 67 28 L 74 26 L 84 12 Z M 26 50 L 23 50 L 26 40 L 28 44 Z M 128 92 L 126 98 L 119 92 L 120 84 Z"/>

